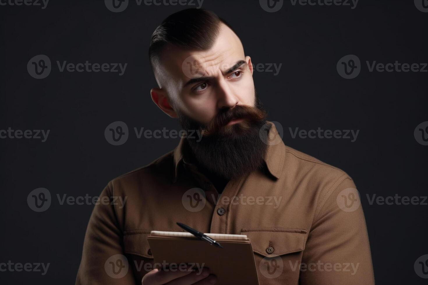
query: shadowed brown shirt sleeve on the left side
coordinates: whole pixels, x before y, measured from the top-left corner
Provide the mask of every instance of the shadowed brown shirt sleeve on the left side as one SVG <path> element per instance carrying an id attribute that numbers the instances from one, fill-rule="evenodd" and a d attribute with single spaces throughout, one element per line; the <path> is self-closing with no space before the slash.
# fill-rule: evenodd
<path id="1" fill-rule="evenodd" d="M 119 226 L 122 212 L 113 201 L 111 182 L 92 211 L 83 242 L 76 285 L 135 284 L 132 268 L 123 253 Z"/>

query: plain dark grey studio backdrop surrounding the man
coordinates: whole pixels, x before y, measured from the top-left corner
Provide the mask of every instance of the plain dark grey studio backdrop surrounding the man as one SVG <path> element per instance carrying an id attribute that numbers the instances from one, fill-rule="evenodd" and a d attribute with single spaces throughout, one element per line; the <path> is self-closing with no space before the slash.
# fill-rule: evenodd
<path id="1" fill-rule="evenodd" d="M 173 12 L 190 6 L 137 6 L 110 12 L 103 1 L 50 0 L 0 6 L 0 129 L 50 129 L 48 140 L 0 139 L 2 203 L 0 262 L 50 262 L 48 273 L 0 272 L 2 284 L 74 284 L 91 205 L 59 205 L 56 194 L 96 196 L 107 182 L 172 150 L 178 139 L 137 139 L 133 128 L 179 129 L 153 103 L 150 35 Z M 253 63 L 282 63 L 277 76 L 254 72 L 269 120 L 284 127 L 285 144 L 345 170 L 362 196 L 377 284 L 426 284 L 413 264 L 428 254 L 428 206 L 370 205 L 366 194 L 427 196 L 427 146 L 413 131 L 428 121 L 428 73 L 369 72 L 366 60 L 426 63 L 428 13 L 413 0 L 360 0 L 350 6 L 292 6 L 265 12 L 259 1 L 205 0 L 202 8 L 235 28 Z M 51 74 L 34 79 L 27 62 L 45 54 Z M 336 71 L 357 55 L 355 79 Z M 128 63 L 118 73 L 59 72 L 56 60 Z M 104 129 L 130 129 L 113 146 Z M 357 141 L 292 138 L 288 127 L 360 130 Z M 51 207 L 27 205 L 47 188 Z"/>

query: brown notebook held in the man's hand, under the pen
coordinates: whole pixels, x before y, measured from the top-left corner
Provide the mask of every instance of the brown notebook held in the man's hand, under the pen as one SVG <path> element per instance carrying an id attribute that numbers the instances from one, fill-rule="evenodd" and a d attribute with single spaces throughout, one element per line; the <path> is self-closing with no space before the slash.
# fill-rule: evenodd
<path id="1" fill-rule="evenodd" d="M 246 235 L 206 233 L 223 248 L 215 247 L 189 232 L 152 231 L 147 236 L 155 262 L 193 264 L 196 271 L 208 267 L 217 285 L 259 285 L 253 249 Z"/>

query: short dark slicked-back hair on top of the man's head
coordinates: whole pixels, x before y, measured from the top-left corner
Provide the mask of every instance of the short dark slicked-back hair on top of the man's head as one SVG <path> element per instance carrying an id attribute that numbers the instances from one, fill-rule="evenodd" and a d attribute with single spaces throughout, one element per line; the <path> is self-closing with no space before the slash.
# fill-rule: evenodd
<path id="1" fill-rule="evenodd" d="M 169 15 L 155 29 L 150 41 L 149 59 L 153 73 L 167 44 L 185 50 L 208 50 L 218 37 L 221 23 L 232 29 L 214 12 L 205 9 L 185 9 Z"/>

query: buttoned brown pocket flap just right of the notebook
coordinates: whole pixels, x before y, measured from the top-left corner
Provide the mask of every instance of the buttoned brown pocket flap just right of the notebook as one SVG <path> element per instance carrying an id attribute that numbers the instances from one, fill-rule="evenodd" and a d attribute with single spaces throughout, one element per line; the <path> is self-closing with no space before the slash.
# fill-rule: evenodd
<path id="1" fill-rule="evenodd" d="M 241 235 L 250 239 L 253 251 L 262 256 L 280 256 L 305 249 L 305 229 L 243 229 Z"/>

